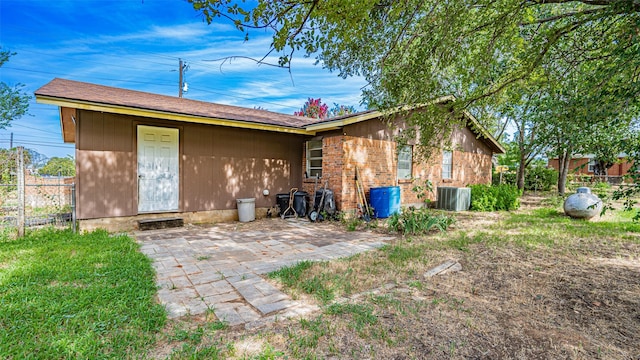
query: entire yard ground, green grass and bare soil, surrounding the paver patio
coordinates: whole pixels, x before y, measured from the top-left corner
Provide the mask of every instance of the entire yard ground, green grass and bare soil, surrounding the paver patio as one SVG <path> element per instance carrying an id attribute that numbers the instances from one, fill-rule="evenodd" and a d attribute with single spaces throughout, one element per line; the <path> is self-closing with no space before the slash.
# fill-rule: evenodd
<path id="1" fill-rule="evenodd" d="M 254 331 L 212 314 L 165 320 L 150 260 L 127 236 L 0 235 L 0 359 L 635 359 L 632 217 L 572 220 L 557 206 L 471 213 L 444 233 L 301 262 L 269 276 L 321 310 Z M 448 259 L 463 271 L 424 277 Z"/>

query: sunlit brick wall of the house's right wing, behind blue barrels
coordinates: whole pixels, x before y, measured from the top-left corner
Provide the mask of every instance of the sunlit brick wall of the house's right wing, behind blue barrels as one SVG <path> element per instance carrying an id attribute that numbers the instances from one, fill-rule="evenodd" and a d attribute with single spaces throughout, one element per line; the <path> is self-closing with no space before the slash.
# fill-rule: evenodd
<path id="1" fill-rule="evenodd" d="M 465 151 L 467 148 L 473 150 Z M 321 188 L 328 181 L 328 187 L 334 192 L 338 210 L 351 213 L 358 203 L 356 167 L 367 198 L 372 187 L 400 186 L 403 206 L 419 205 L 423 202 L 418 199 L 412 188 L 418 184 L 423 185 L 427 179 L 434 187 L 434 191 L 427 194 L 431 201 L 436 200 L 438 186 L 462 187 L 491 183 L 491 155 L 486 149 L 480 145 L 460 146 L 458 150 L 453 151 L 452 156 L 451 179 L 442 179 L 442 152 L 437 151 L 426 163 L 418 161 L 414 155 L 413 180 L 398 181 L 398 155 L 394 141 L 348 135 L 325 136 L 322 141 L 322 179 L 318 180 L 317 187 Z M 306 149 L 302 161 L 306 170 Z M 312 194 L 314 184 L 314 178 L 304 179 L 302 189 Z"/>

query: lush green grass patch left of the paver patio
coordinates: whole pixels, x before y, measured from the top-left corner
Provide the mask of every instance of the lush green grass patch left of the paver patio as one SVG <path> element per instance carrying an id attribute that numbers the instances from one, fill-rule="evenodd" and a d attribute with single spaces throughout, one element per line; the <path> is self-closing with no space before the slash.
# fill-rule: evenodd
<path id="1" fill-rule="evenodd" d="M 0 238 L 0 358 L 141 358 L 165 324 L 128 236 L 37 230 Z"/>

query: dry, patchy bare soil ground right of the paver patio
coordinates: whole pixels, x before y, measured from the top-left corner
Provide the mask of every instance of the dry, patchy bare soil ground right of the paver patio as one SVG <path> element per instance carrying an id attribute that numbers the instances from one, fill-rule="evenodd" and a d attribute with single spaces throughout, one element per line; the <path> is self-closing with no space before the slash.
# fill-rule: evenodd
<path id="1" fill-rule="evenodd" d="M 541 198 L 525 200 L 524 216 Z M 551 214 L 547 226 L 463 213 L 446 233 L 314 267 L 310 277 L 343 274 L 350 290 L 310 318 L 219 330 L 196 348 L 222 358 L 640 359 L 640 232 L 608 236 Z M 424 276 L 447 260 L 462 270 Z"/>

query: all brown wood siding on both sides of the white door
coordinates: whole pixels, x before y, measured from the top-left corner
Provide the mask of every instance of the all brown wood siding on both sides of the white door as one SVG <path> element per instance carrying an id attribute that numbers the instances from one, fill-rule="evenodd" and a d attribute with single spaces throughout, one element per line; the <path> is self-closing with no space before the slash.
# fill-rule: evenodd
<path id="1" fill-rule="evenodd" d="M 235 209 L 251 197 L 269 207 L 302 185 L 301 135 L 93 111 L 79 111 L 77 122 L 79 219 L 138 214 L 137 125 L 180 129 L 182 211 Z"/>

